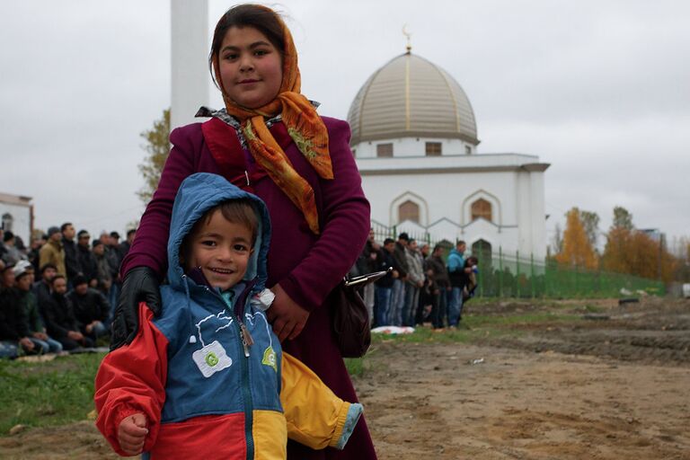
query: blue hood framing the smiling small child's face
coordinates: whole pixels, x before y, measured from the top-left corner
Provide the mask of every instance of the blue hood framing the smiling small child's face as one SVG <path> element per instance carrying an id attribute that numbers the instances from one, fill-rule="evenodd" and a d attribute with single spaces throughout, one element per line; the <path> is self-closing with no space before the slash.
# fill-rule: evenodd
<path id="1" fill-rule="evenodd" d="M 259 217 L 254 252 L 247 264 L 244 280 L 256 278 L 254 288 L 264 288 L 268 277 L 266 258 L 270 242 L 269 211 L 256 195 L 238 189 L 222 176 L 210 173 L 191 174 L 182 181 L 180 190 L 177 191 L 168 239 L 168 281 L 171 286 L 181 287 L 184 271 L 180 266 L 180 246 L 184 237 L 208 209 L 230 199 L 251 199 Z"/>

